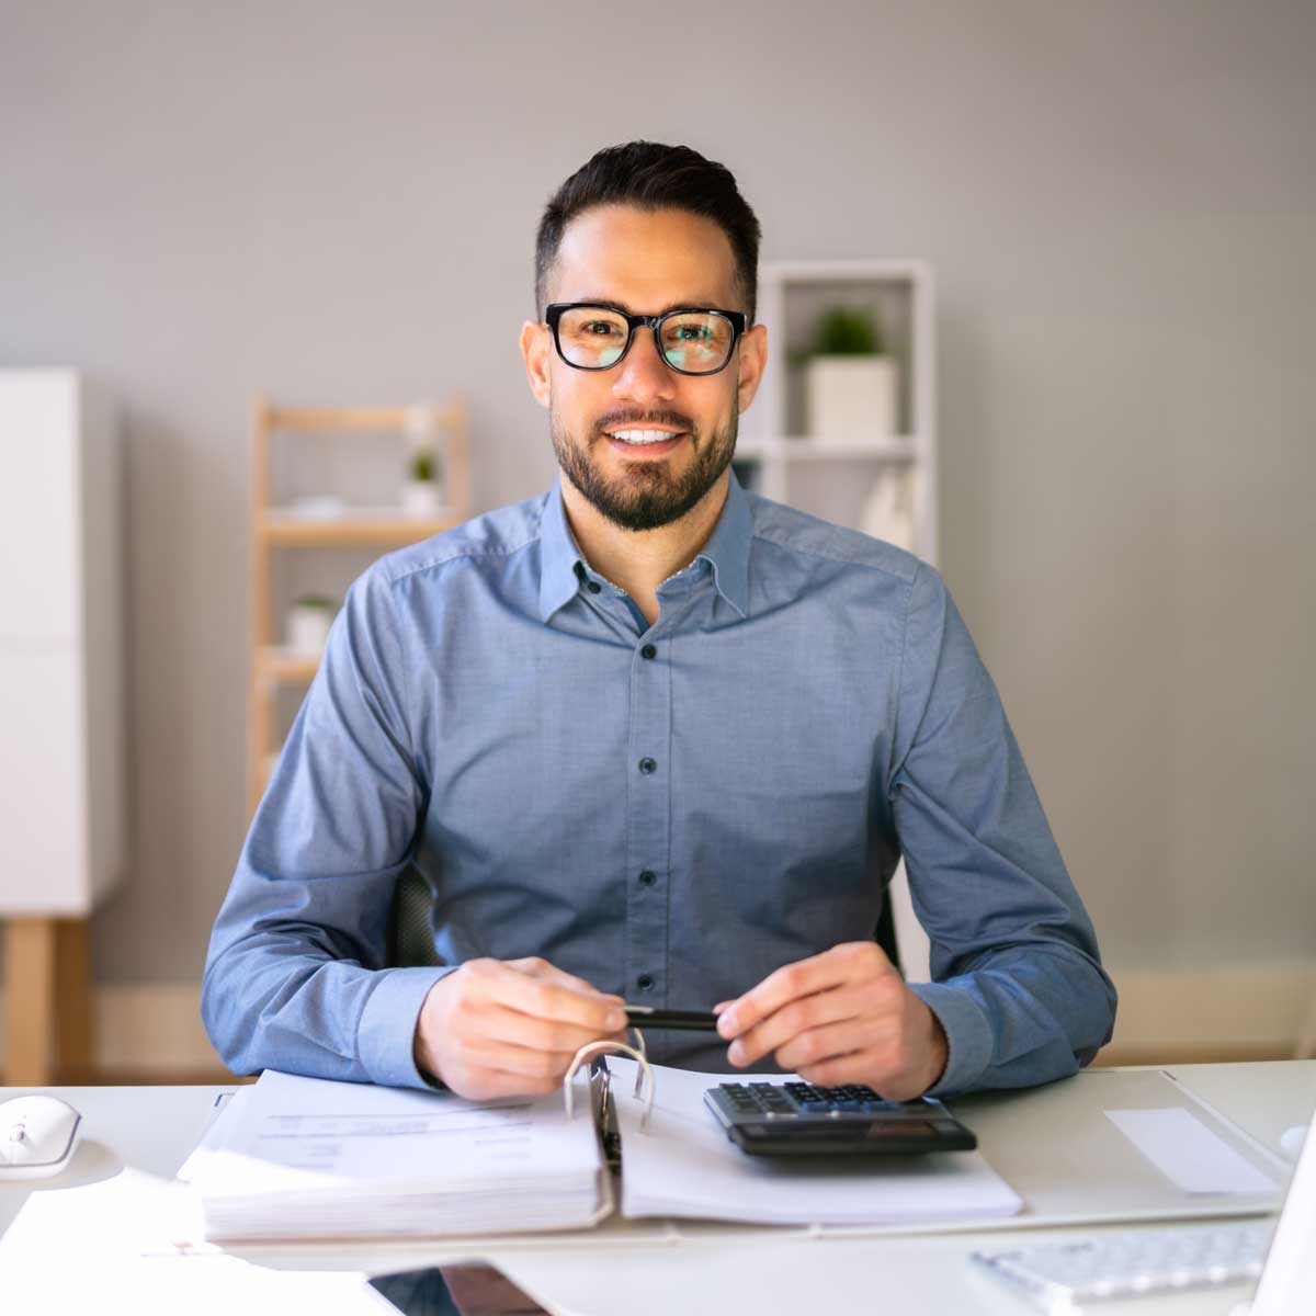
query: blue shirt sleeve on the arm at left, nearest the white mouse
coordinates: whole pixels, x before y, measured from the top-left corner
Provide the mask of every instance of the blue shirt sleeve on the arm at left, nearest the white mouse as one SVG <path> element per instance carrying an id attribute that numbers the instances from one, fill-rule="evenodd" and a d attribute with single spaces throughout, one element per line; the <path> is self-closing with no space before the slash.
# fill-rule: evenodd
<path id="1" fill-rule="evenodd" d="M 426 800 L 407 671 L 390 583 L 372 569 L 334 620 L 211 937 L 201 1017 L 234 1073 L 434 1086 L 413 1037 L 451 970 L 388 965 Z"/>

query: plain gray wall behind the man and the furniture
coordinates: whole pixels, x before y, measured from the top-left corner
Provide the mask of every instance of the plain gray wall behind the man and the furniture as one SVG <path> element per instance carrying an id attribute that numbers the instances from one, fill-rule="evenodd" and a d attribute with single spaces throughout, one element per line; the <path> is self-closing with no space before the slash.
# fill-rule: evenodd
<path id="1" fill-rule="evenodd" d="M 767 258 L 934 265 L 942 566 L 1107 958 L 1311 958 L 1316 7 L 691 13 L 4 0 L 0 362 L 126 408 L 103 980 L 199 976 L 242 840 L 253 395 L 461 386 L 478 505 L 545 488 L 534 225 L 641 136 L 728 163 Z"/>

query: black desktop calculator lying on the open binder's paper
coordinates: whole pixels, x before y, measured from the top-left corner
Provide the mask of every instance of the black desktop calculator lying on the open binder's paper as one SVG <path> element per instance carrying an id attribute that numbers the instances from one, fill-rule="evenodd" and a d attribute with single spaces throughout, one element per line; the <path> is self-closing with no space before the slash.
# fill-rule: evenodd
<path id="1" fill-rule="evenodd" d="M 862 1083 L 720 1083 L 704 1092 L 704 1103 L 732 1142 L 753 1155 L 920 1155 L 978 1146 L 941 1101 L 886 1101 Z"/>

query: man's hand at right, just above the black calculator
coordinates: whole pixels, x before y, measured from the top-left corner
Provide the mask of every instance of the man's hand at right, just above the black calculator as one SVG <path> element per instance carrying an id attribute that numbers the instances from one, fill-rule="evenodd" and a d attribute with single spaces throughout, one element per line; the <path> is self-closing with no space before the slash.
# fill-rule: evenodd
<path id="1" fill-rule="evenodd" d="M 921 1096 L 946 1067 L 941 1023 L 873 941 L 786 965 L 713 1009 L 737 1066 L 771 1051 L 809 1083 L 867 1083 L 895 1101 Z"/>

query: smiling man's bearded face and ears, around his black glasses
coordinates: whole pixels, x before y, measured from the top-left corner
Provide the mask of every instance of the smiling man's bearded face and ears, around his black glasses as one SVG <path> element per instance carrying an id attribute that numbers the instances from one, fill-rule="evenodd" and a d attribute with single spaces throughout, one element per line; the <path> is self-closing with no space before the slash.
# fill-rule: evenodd
<path id="1" fill-rule="evenodd" d="M 595 207 L 567 225 L 547 300 L 600 301 L 632 315 L 676 305 L 745 309 L 734 292 L 730 242 L 712 220 L 629 205 Z M 750 330 L 725 370 L 695 376 L 671 370 L 653 332 L 642 328 L 616 366 L 591 371 L 574 370 L 554 350 L 551 332 L 528 324 L 521 336 L 526 368 L 549 408 L 553 450 L 566 479 L 628 530 L 651 530 L 684 516 L 730 463 L 740 412 L 762 370 L 762 326 Z M 653 446 L 613 437 L 628 429 L 674 437 Z"/>

